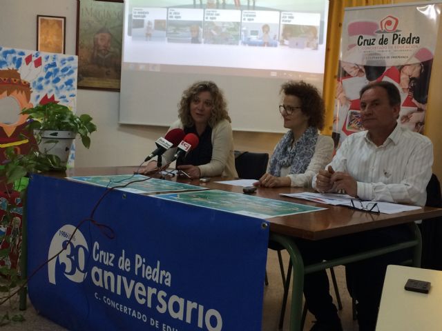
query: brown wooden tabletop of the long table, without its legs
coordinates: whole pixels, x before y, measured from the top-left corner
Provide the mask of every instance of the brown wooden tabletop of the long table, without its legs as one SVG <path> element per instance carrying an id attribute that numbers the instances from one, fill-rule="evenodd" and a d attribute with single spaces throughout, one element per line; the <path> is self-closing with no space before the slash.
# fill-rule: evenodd
<path id="1" fill-rule="evenodd" d="M 99 175 L 99 174 L 130 174 L 137 170 L 136 167 L 103 167 L 103 168 L 77 168 L 70 169 L 68 177 Z M 57 175 L 57 174 L 55 174 Z M 57 176 L 60 176 L 58 174 Z M 64 176 L 64 173 L 61 174 Z M 242 193 L 240 186 L 225 185 L 217 181 L 229 180 L 227 177 L 213 177 L 208 183 L 200 183 L 198 179 L 173 179 L 182 183 L 200 185 L 213 190 Z M 358 210 L 352 210 L 342 206 L 324 205 L 312 201 L 293 199 L 280 196 L 280 193 L 305 192 L 305 188 L 258 188 L 256 195 L 268 199 L 278 199 L 289 202 L 314 205 L 327 208 L 319 212 L 297 214 L 291 217 L 273 217 L 269 219 L 270 230 L 273 234 L 282 234 L 287 237 L 297 237 L 311 240 L 319 240 L 330 237 L 338 237 L 376 228 L 385 228 L 391 225 L 410 223 L 419 219 L 428 219 L 442 216 L 442 209 L 423 207 L 421 210 L 401 212 L 397 214 L 374 214 Z"/>

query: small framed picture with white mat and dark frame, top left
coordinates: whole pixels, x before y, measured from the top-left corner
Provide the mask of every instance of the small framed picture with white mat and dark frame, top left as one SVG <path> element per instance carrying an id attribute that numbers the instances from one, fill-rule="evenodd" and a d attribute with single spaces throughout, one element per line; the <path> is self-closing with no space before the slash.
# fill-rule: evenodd
<path id="1" fill-rule="evenodd" d="M 37 50 L 64 54 L 65 41 L 66 17 L 37 15 Z"/>

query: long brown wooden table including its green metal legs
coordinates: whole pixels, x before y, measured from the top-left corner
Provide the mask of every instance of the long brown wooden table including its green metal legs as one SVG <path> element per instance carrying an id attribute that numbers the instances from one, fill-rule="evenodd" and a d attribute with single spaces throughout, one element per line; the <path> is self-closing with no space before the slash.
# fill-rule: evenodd
<path id="1" fill-rule="evenodd" d="M 68 171 L 68 176 L 81 176 L 86 174 L 129 174 L 134 170 L 136 170 L 135 167 L 71 169 Z M 200 183 L 198 180 L 192 181 L 190 179 L 178 180 L 193 185 L 201 185 L 210 189 L 242 193 L 242 188 L 239 186 L 216 183 L 218 180 L 227 180 L 227 178 L 215 177 L 209 183 Z M 285 249 L 287 249 L 291 262 L 293 263 L 295 277 L 293 278 L 293 290 L 291 292 L 290 330 L 300 330 L 304 277 L 300 277 L 299 275 L 303 276 L 309 272 L 323 270 L 344 263 L 360 261 L 361 259 L 385 254 L 386 252 L 410 247 L 414 248 L 412 263 L 414 266 L 419 266 L 421 259 L 421 239 L 419 230 L 417 230 L 417 227 L 414 225 L 414 221 L 442 216 L 442 209 L 438 208 L 423 207 L 420 210 L 412 210 L 410 212 L 401 212 L 398 214 L 373 214 L 352 210 L 342 206 L 323 205 L 321 203 L 304 200 L 300 201 L 279 195 L 280 193 L 296 193 L 304 191 L 304 188 L 258 188 L 256 191 L 258 197 L 280 199 L 327 208 L 327 210 L 320 210 L 318 212 L 297 214 L 288 217 L 273 217 L 268 220 L 270 222 L 271 231 L 270 239 L 280 243 Z M 385 249 L 372 250 L 370 252 L 354 254 L 348 257 L 341 257 L 340 259 L 332 261 L 325 261 L 324 263 L 316 263 L 315 265 L 304 265 L 302 256 L 298 251 L 294 240 L 296 238 L 310 240 L 326 239 L 403 223 L 410 223 L 411 226 L 414 225 L 414 240 L 392 245 Z"/>

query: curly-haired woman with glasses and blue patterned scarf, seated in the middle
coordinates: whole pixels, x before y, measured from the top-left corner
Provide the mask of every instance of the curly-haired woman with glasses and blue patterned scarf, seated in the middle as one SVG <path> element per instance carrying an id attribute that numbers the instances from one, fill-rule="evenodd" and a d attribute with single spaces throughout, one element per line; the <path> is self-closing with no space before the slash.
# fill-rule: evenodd
<path id="1" fill-rule="evenodd" d="M 324 126 L 325 106 L 318 90 L 303 81 L 281 86 L 280 114 L 289 129 L 273 150 L 267 173 L 253 185 L 311 186 L 311 179 L 332 160 L 331 137 L 318 134 Z"/>

